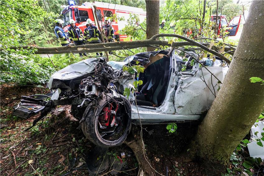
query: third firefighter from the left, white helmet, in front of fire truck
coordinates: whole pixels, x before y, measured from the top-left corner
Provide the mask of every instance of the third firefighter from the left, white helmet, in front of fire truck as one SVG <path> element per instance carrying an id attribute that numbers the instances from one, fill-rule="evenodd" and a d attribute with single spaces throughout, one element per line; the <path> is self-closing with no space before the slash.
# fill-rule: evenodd
<path id="1" fill-rule="evenodd" d="M 87 28 L 84 30 L 85 40 L 87 40 L 89 44 L 100 43 L 99 35 L 101 35 L 101 33 L 96 26 L 92 25 L 92 20 L 90 18 L 86 20 L 86 26 Z M 99 56 L 99 53 L 96 53 L 96 55 Z M 100 52 L 100 56 L 103 56 L 103 53 Z"/>

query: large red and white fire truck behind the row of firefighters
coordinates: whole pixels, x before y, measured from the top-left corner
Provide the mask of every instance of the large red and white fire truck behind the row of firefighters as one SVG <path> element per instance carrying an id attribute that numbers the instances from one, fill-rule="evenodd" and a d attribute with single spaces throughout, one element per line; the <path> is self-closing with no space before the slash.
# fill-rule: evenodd
<path id="1" fill-rule="evenodd" d="M 94 7 L 97 7 L 96 14 Z M 125 21 L 113 21 L 112 26 L 115 31 L 116 40 L 123 41 L 127 38 L 126 35 L 119 35 L 118 31 L 122 30 L 127 24 L 126 20 L 129 18 L 129 14 L 134 13 L 139 15 L 139 22 L 144 21 L 146 18 L 146 12 L 142 8 L 123 6 L 119 4 L 111 4 L 105 2 L 85 2 L 82 6 L 76 6 L 73 4 L 65 7 L 61 14 L 63 16 L 63 29 L 67 32 L 69 27 L 69 20 L 73 19 L 76 21 L 76 26 L 78 26 L 82 31 L 86 28 L 86 20 L 90 18 L 93 21 L 93 24 L 97 27 L 102 27 L 104 25 L 104 20 L 107 17 L 111 17 L 116 14 L 117 17 L 124 17 Z M 97 24 L 96 16 L 98 18 L 99 24 Z"/>

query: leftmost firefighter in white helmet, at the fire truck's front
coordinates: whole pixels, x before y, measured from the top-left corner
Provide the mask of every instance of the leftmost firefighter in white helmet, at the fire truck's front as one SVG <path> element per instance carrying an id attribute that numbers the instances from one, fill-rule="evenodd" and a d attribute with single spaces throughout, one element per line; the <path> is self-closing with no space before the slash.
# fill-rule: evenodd
<path id="1" fill-rule="evenodd" d="M 62 46 L 68 46 L 69 45 L 68 36 L 62 29 L 62 24 L 64 23 L 64 21 L 62 21 L 61 19 L 56 19 L 55 22 L 56 22 L 56 26 L 54 28 L 54 32 L 59 40 L 59 43 Z"/>

